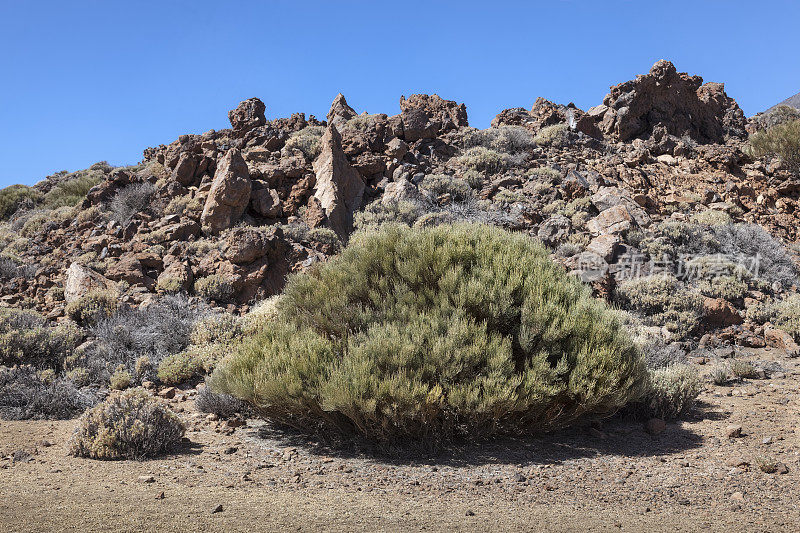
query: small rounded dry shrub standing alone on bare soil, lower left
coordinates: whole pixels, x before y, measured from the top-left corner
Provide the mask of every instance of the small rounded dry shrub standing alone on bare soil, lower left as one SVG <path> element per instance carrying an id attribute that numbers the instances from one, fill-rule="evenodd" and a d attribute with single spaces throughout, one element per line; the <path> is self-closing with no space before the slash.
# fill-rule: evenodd
<path id="1" fill-rule="evenodd" d="M 90 459 L 157 456 L 180 443 L 181 420 L 142 389 L 112 394 L 86 412 L 73 435 L 70 453 Z"/>

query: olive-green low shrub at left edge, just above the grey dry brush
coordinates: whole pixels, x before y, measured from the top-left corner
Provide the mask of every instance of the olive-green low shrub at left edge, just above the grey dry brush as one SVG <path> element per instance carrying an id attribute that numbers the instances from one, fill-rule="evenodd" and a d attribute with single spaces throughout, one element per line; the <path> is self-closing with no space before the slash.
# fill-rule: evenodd
<path id="1" fill-rule="evenodd" d="M 81 339 L 73 325 L 50 327 L 33 311 L 0 308 L 0 365 L 60 368 Z"/>

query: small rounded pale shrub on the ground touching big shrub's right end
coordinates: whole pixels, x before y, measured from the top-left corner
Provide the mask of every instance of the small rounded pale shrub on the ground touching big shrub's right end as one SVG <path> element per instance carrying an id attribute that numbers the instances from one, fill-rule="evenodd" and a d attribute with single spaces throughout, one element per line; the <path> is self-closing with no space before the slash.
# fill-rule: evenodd
<path id="1" fill-rule="evenodd" d="M 675 420 L 687 413 L 703 390 L 697 370 L 690 365 L 673 365 L 650 374 L 650 391 L 643 406 L 647 416 Z"/>

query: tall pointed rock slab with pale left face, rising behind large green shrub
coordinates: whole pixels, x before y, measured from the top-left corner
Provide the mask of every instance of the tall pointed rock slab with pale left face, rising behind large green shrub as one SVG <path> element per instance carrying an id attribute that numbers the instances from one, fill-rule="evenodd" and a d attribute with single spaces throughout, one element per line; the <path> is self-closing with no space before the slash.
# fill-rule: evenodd
<path id="1" fill-rule="evenodd" d="M 320 143 L 322 151 L 314 161 L 314 197 L 325 212 L 328 226 L 346 239 L 353 228 L 353 212 L 361 206 L 364 180 L 347 161 L 336 126 L 328 125 Z"/>

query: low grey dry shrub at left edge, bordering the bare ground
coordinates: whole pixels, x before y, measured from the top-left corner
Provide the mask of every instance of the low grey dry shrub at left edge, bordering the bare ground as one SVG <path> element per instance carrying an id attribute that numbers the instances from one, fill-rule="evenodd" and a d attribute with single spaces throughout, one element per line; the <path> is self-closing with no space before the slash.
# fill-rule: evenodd
<path id="1" fill-rule="evenodd" d="M 94 401 L 69 379 L 42 379 L 29 365 L 0 366 L 0 417 L 6 420 L 72 418 Z"/>

